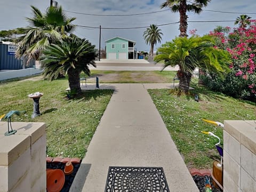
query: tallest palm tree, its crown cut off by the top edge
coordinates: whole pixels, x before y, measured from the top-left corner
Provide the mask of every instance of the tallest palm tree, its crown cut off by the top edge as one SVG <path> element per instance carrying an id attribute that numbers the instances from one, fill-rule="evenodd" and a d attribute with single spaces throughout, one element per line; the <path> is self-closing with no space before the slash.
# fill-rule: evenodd
<path id="1" fill-rule="evenodd" d="M 187 28 L 188 28 L 188 15 L 186 14 L 187 11 L 194 12 L 195 14 L 201 13 L 202 7 L 207 6 L 208 2 L 211 0 L 167 0 L 161 5 L 161 9 L 164 7 L 168 7 L 171 9 L 172 12 L 180 13 L 180 37 L 187 37 Z M 188 4 L 189 3 L 189 4 Z"/>

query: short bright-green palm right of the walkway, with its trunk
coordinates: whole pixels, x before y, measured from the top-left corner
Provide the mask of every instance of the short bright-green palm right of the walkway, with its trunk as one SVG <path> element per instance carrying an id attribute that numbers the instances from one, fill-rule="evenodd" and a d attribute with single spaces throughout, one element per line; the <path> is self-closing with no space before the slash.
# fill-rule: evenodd
<path id="1" fill-rule="evenodd" d="M 188 93 L 192 73 L 196 67 L 215 73 L 228 70 L 229 57 L 226 51 L 215 48 L 210 36 L 176 37 L 159 47 L 155 61 L 164 61 L 164 67 L 179 65 L 177 73 L 179 89 Z"/>

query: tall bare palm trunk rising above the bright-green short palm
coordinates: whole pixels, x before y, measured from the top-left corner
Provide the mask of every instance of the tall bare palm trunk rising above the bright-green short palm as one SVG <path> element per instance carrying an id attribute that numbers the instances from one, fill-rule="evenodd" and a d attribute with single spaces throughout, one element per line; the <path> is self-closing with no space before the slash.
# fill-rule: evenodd
<path id="1" fill-rule="evenodd" d="M 187 19 L 188 19 L 188 15 L 187 13 L 187 2 L 186 0 L 182 0 L 180 2 L 180 37 L 187 37 L 187 28 L 188 28 L 188 23 L 187 23 Z"/>

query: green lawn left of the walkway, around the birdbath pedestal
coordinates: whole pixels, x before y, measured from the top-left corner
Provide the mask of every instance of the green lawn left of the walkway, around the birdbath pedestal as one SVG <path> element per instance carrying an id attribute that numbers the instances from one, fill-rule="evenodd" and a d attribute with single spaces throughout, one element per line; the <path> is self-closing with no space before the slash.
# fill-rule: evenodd
<path id="1" fill-rule="evenodd" d="M 113 91 L 86 91 L 80 98 L 67 100 L 67 87 L 67 79 L 1 83 L 0 115 L 26 110 L 25 115 L 13 116 L 12 121 L 45 122 L 47 155 L 84 157 Z M 37 91 L 44 93 L 39 103 L 43 115 L 31 119 L 33 100 L 27 95 Z"/>

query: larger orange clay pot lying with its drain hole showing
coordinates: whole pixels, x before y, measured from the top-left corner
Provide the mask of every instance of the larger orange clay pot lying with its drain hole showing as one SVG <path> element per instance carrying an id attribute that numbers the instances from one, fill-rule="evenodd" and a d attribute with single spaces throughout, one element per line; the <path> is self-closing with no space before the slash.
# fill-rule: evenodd
<path id="1" fill-rule="evenodd" d="M 46 170 L 46 189 L 47 192 L 59 192 L 65 183 L 65 174 L 60 169 Z"/>

